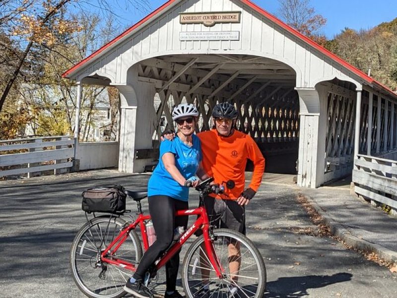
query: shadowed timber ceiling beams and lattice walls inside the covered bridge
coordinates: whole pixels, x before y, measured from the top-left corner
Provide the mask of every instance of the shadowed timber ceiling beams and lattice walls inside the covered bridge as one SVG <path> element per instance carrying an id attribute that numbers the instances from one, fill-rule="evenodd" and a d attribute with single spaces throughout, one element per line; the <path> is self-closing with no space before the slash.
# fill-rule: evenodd
<path id="1" fill-rule="evenodd" d="M 174 129 L 171 112 L 176 104 L 186 102 L 198 107 L 199 132 L 212 127 L 214 105 L 229 101 L 239 113 L 237 129 L 250 134 L 257 143 L 296 143 L 299 97 L 295 80 L 289 66 L 256 56 L 175 55 L 138 65 L 138 81 L 156 88 L 158 135 L 161 130 Z"/>

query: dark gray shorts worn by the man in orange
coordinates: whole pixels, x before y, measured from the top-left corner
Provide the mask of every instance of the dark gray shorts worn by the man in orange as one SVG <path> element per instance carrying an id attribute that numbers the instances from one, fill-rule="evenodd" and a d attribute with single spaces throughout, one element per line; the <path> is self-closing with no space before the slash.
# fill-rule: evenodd
<path id="1" fill-rule="evenodd" d="M 204 206 L 211 225 L 217 228 L 230 228 L 245 235 L 245 207 L 235 200 L 204 198 Z"/>

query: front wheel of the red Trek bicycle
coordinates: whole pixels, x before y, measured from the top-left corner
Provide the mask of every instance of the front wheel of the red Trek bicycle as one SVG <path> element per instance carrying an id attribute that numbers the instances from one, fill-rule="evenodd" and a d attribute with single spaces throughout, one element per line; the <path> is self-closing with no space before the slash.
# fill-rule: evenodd
<path id="1" fill-rule="evenodd" d="M 188 249 L 182 266 L 182 284 L 191 298 L 262 298 L 265 262 L 254 243 L 230 229 L 213 231 L 213 247 L 223 271 L 221 278 L 209 261 L 200 236 Z"/>

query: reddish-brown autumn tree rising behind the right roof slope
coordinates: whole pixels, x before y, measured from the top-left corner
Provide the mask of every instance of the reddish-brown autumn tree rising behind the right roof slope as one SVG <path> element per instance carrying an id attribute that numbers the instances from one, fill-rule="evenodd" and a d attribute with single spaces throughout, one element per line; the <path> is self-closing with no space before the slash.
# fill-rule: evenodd
<path id="1" fill-rule="evenodd" d="M 310 0 L 278 1 L 280 2 L 279 15 L 289 26 L 322 45 L 327 41 L 324 34 L 320 32 L 327 23 L 327 19 L 316 14 L 315 9 L 309 5 Z"/>

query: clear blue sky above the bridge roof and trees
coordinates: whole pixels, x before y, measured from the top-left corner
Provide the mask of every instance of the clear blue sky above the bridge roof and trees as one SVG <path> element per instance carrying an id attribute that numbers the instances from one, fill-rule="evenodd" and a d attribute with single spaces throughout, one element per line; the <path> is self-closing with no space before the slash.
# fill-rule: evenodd
<path id="1" fill-rule="evenodd" d="M 111 0 L 116 2 L 117 0 Z M 122 1 L 118 1 L 120 4 Z M 166 0 L 149 0 L 151 8 L 161 6 Z M 278 0 L 253 0 L 271 14 L 277 16 Z M 327 18 L 323 33 L 329 38 L 349 27 L 352 29 L 369 29 L 381 22 L 391 21 L 397 17 L 397 0 L 311 0 L 316 12 Z M 143 18 L 142 13 L 132 6 L 120 11 L 120 21 L 130 26 Z"/>

